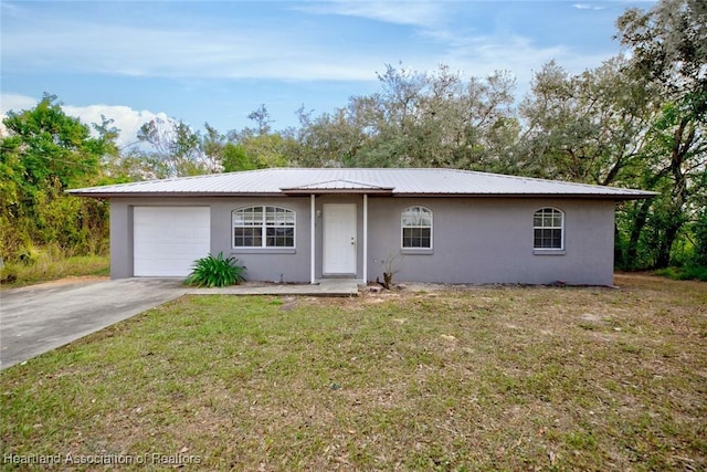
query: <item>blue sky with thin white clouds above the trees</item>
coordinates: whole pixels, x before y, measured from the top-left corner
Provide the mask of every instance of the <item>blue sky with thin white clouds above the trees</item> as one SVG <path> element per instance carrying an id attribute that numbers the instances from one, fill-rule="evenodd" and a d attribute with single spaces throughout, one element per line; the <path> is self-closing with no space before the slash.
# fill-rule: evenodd
<path id="1" fill-rule="evenodd" d="M 0 0 L 0 113 L 44 93 L 83 122 L 101 115 L 135 139 L 155 117 L 221 133 L 274 129 L 380 91 L 378 73 L 516 76 L 516 95 L 555 60 L 570 73 L 619 54 L 627 8 L 654 1 L 11 1 Z M 2 130 L 0 130 L 2 132 Z"/>

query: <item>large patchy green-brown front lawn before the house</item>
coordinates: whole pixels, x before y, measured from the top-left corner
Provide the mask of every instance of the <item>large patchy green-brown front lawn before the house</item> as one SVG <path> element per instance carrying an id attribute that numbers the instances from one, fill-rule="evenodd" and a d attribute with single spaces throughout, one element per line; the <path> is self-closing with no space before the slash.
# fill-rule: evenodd
<path id="1" fill-rule="evenodd" d="M 0 457 L 704 470 L 707 290 L 618 284 L 183 297 L 2 371 Z"/>

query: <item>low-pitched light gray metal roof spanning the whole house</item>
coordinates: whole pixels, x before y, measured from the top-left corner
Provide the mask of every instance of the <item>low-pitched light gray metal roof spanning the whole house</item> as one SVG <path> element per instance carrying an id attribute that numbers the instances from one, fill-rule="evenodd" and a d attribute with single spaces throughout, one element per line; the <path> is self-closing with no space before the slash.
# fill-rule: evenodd
<path id="1" fill-rule="evenodd" d="M 651 198 L 655 192 L 456 169 L 272 168 L 68 190 L 81 197 L 392 196 Z"/>

